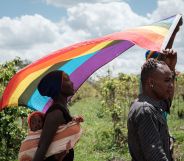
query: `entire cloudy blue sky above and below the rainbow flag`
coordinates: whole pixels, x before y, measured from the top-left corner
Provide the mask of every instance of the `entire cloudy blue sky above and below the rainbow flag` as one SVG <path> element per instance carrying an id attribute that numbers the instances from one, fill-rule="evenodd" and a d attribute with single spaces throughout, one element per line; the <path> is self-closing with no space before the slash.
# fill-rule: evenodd
<path id="1" fill-rule="evenodd" d="M 76 42 L 183 12 L 183 0 L 2 0 L 0 62 L 16 56 L 35 61 Z M 174 43 L 178 51 L 179 71 L 184 71 L 183 30 Z M 144 52 L 144 49 L 134 47 L 103 67 L 99 73 L 109 68 L 116 74 L 139 73 Z"/>

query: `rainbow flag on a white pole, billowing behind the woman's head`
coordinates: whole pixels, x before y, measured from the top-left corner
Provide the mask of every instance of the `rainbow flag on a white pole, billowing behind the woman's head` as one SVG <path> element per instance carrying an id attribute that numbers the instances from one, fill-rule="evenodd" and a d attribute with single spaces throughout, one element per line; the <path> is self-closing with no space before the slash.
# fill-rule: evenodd
<path id="1" fill-rule="evenodd" d="M 52 99 L 41 96 L 37 85 L 47 73 L 53 70 L 65 71 L 77 91 L 97 69 L 135 44 L 154 51 L 164 49 L 181 17 L 178 14 L 151 25 L 80 42 L 37 60 L 10 80 L 1 98 L 0 110 L 21 105 L 45 112 Z"/>

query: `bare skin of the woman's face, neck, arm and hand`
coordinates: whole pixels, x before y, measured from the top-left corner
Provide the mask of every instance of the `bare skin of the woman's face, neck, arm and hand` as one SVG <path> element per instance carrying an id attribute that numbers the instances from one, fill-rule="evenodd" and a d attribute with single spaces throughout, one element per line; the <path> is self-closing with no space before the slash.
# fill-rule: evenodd
<path id="1" fill-rule="evenodd" d="M 61 85 L 61 93 L 53 98 L 53 105 L 61 104 L 62 106 L 67 106 L 67 98 L 69 96 L 74 95 L 73 83 L 70 81 L 69 76 L 64 73 L 62 76 L 62 85 Z M 52 107 L 51 107 L 52 108 Z M 83 117 L 78 116 L 75 117 L 75 120 L 78 122 L 83 122 Z M 66 120 L 64 119 L 63 112 L 59 109 L 55 109 L 52 112 L 48 113 L 45 118 L 43 130 L 41 133 L 39 148 L 36 151 L 35 157 L 33 161 L 43 161 L 45 158 L 45 154 L 49 148 L 49 145 L 52 142 L 52 139 L 58 129 L 58 127 L 62 124 L 66 124 Z M 62 160 L 65 156 L 66 152 L 55 155 L 58 161 Z"/>

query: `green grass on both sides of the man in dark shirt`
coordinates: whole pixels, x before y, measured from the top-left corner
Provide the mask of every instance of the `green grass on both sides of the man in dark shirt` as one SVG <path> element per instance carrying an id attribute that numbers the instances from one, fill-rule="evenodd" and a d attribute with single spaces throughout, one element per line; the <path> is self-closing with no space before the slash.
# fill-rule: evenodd
<path id="1" fill-rule="evenodd" d="M 178 108 L 183 108 L 181 104 Z M 112 129 L 112 123 L 109 117 L 99 118 L 97 115 L 101 108 L 100 100 L 95 97 L 86 98 L 76 102 L 70 107 L 72 115 L 83 115 L 85 122 L 82 123 L 83 135 L 75 147 L 75 161 L 108 161 L 109 158 L 123 158 L 125 161 L 130 160 L 128 148 L 119 151 L 110 146 L 108 133 L 104 139 L 99 137 L 102 132 L 109 132 Z M 168 117 L 168 126 L 171 134 L 176 138 L 175 156 L 176 161 L 184 161 L 184 119 L 177 116 L 178 108 L 171 109 L 171 115 Z"/>

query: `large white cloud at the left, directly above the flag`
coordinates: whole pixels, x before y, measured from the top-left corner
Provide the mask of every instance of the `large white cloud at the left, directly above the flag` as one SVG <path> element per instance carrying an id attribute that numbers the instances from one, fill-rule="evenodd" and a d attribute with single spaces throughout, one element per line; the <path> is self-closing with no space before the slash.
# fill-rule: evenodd
<path id="1" fill-rule="evenodd" d="M 64 22 L 53 23 L 41 15 L 0 19 L 0 62 L 16 56 L 36 60 L 85 37 Z M 84 38 L 83 38 L 84 39 Z"/>

